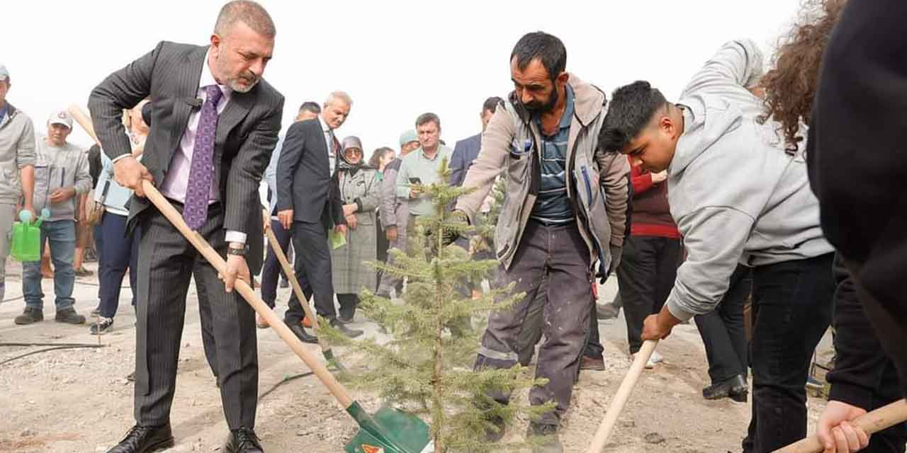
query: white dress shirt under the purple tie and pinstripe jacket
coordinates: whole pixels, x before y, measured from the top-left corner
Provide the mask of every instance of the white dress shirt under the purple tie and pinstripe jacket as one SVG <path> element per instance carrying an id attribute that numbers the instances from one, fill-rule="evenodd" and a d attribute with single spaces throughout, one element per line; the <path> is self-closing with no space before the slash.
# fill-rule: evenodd
<path id="1" fill-rule="evenodd" d="M 227 103 L 233 94 L 233 90 L 227 85 L 219 84 L 214 79 L 214 74 L 211 72 L 211 68 L 208 65 L 210 52 L 211 50 L 209 48 L 208 52 L 205 53 L 205 65 L 201 69 L 199 90 L 195 95 L 201 101 L 208 101 L 208 94 L 205 92 L 205 87 L 209 85 L 218 85 L 220 92 L 223 93 L 217 106 L 219 115 L 227 108 Z M 195 109 L 190 113 L 189 124 L 186 126 L 186 131 L 183 132 L 182 138 L 180 138 L 180 147 L 173 153 L 170 169 L 167 171 L 167 176 L 164 177 L 164 181 L 161 184 L 161 194 L 163 194 L 164 197 L 180 203 L 185 203 L 186 201 L 186 187 L 189 185 L 189 175 L 192 168 L 192 151 L 195 149 L 195 134 L 199 129 L 200 117 L 201 109 Z M 226 175 L 222 176 L 226 178 Z M 220 198 L 219 190 L 214 182 L 215 181 L 212 178 L 209 204 L 217 202 Z M 227 242 L 245 243 L 246 234 L 239 231 L 227 231 L 225 240 Z"/>

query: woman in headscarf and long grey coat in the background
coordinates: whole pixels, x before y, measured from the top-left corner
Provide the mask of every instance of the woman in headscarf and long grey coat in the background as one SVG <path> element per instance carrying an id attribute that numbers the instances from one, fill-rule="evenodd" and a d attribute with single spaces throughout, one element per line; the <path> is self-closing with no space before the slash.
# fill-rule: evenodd
<path id="1" fill-rule="evenodd" d="M 378 170 L 363 160 L 362 141 L 358 137 L 343 140 L 343 153 L 337 170 L 340 199 L 346 216 L 346 246 L 331 249 L 331 271 L 334 291 L 340 303 L 339 320 L 352 323 L 359 303 L 359 292 L 375 290 L 375 209 L 378 207 Z"/>

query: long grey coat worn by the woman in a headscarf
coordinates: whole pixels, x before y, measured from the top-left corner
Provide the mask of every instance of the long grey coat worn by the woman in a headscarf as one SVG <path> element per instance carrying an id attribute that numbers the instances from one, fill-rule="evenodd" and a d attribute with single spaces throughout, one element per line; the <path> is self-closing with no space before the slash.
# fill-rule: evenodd
<path id="1" fill-rule="evenodd" d="M 337 172 L 340 198 L 343 204 L 356 203 L 356 229 L 349 228 L 346 246 L 331 249 L 331 273 L 336 294 L 359 294 L 363 289 L 375 291 L 375 268 L 367 263 L 375 261 L 377 237 L 375 236 L 375 209 L 378 207 L 378 171 L 360 168 L 356 174 L 342 169 Z"/>

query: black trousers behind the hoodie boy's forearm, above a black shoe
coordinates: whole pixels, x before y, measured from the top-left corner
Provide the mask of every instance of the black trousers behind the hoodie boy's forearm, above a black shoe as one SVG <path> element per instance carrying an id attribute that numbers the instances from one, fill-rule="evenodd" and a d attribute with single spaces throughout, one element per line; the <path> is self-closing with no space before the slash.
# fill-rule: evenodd
<path id="1" fill-rule="evenodd" d="M 713 384 L 743 376 L 746 380 L 749 360 L 746 358 L 746 326 L 743 308 L 753 291 L 752 269 L 737 265 L 730 286 L 715 311 L 696 316 L 699 336 L 706 345 L 708 377 Z"/>

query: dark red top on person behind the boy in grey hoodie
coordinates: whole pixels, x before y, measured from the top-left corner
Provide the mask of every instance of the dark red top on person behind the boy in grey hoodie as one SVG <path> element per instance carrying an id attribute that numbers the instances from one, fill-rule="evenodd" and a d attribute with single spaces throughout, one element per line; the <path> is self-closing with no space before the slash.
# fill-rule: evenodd
<path id="1" fill-rule="evenodd" d="M 630 235 L 679 239 L 678 226 L 668 207 L 668 181 L 653 183 L 651 173 L 630 162 L 630 182 L 633 184 Z"/>

